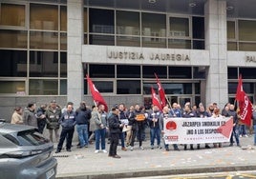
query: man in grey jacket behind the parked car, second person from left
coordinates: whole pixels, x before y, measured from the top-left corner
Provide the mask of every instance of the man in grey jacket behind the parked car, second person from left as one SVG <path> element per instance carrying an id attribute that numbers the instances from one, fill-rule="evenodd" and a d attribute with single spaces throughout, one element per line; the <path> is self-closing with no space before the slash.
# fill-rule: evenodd
<path id="1" fill-rule="evenodd" d="M 29 103 L 27 109 L 24 109 L 23 120 L 24 125 L 32 126 L 37 128 L 37 119 L 35 116 L 35 104 Z"/>

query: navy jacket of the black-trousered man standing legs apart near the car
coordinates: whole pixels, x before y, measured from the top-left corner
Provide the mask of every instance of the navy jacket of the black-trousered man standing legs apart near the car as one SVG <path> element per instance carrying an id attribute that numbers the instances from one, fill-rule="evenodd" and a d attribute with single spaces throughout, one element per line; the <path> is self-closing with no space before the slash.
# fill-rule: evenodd
<path id="1" fill-rule="evenodd" d="M 59 123 L 62 129 L 74 129 L 75 128 L 75 111 L 64 111 L 59 119 Z"/>

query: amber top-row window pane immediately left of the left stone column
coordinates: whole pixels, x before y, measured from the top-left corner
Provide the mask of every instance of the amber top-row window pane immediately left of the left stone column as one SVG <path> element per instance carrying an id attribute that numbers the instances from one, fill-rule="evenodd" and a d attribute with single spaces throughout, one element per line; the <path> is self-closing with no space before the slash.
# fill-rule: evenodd
<path id="1" fill-rule="evenodd" d="M 31 4 L 32 30 L 58 30 L 58 7 L 53 5 Z"/>

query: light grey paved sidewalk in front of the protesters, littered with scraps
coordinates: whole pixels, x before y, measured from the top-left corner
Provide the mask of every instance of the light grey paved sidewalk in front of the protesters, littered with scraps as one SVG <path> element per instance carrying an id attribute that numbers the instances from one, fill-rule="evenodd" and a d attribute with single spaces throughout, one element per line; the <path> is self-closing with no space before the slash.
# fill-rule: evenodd
<path id="1" fill-rule="evenodd" d="M 165 149 L 150 149 L 149 141 L 143 143 L 144 150 L 138 143 L 133 151 L 122 151 L 117 154 L 120 159 L 108 157 L 108 153 L 95 153 L 95 145 L 86 149 L 76 149 L 72 152 L 62 151 L 53 154 L 58 162 L 57 178 L 132 178 L 133 176 L 152 176 L 167 174 L 184 174 L 199 172 L 215 172 L 230 170 L 256 169 L 256 147 L 253 146 L 253 136 L 240 138 L 242 148 L 223 148 L 175 151 Z M 76 143 L 74 143 L 76 145 Z M 56 146 L 56 144 L 55 144 Z M 212 145 L 211 145 L 212 147 Z M 109 145 L 107 145 L 109 149 Z"/>

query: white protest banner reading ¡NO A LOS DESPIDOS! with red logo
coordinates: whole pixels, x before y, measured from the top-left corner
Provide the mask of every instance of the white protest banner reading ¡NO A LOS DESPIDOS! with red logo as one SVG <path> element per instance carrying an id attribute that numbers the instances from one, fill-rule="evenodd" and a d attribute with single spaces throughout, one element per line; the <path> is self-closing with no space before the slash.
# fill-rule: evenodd
<path id="1" fill-rule="evenodd" d="M 165 144 L 229 142 L 232 129 L 232 117 L 163 119 Z"/>

